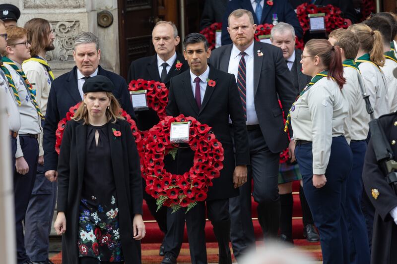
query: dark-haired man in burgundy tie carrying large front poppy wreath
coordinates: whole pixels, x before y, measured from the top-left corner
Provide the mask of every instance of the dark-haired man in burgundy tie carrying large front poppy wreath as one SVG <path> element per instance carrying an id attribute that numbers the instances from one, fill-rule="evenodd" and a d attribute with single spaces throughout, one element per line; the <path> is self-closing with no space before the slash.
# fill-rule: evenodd
<path id="1" fill-rule="evenodd" d="M 186 217 L 193 264 L 207 263 L 205 207 L 218 241 L 219 263 L 231 264 L 229 198 L 239 194 L 238 187 L 246 182 L 249 164 L 248 135 L 242 101 L 234 76 L 207 65 L 211 50 L 208 49 L 203 35 L 192 33 L 186 36 L 184 49 L 191 70 L 172 78 L 167 114 L 192 116 L 202 124 L 210 126 L 222 143 L 224 160 L 220 177 L 212 180 L 213 186 L 209 187 L 205 203 L 199 202 L 186 214 L 185 210 L 177 213 Z M 209 81 L 214 81 L 215 85 L 209 86 Z M 233 125 L 235 154 L 229 116 Z M 178 174 L 183 174 L 193 165 L 194 151 L 180 148 L 178 152 Z"/>

